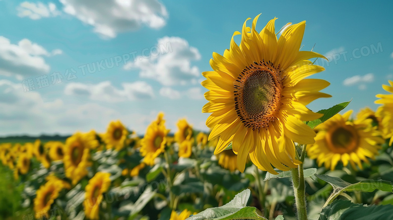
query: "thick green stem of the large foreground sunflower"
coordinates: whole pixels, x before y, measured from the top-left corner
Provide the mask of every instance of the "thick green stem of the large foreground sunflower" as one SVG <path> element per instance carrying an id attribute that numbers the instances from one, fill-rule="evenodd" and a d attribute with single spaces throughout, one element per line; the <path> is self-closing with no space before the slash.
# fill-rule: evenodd
<path id="1" fill-rule="evenodd" d="M 303 174 L 303 161 L 306 155 L 306 145 L 300 146 L 302 153 L 300 158 L 296 155 L 296 159 L 300 160 L 302 163 L 299 164 L 297 168 L 292 168 L 292 183 L 293 191 L 295 193 L 295 203 L 297 210 L 297 217 L 299 220 L 307 220 L 307 205 L 305 196 L 305 183 Z"/>

